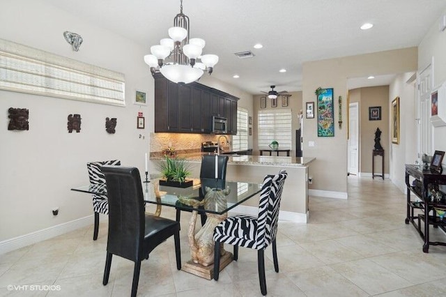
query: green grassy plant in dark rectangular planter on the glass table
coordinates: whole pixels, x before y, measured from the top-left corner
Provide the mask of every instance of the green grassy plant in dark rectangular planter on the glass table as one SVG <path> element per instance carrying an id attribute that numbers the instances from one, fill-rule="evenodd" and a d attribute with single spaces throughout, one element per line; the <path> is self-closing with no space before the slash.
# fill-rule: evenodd
<path id="1" fill-rule="evenodd" d="M 193 184 L 192 180 L 187 180 L 187 176 L 191 174 L 190 165 L 185 160 L 178 157 L 164 157 L 164 162 L 160 164 L 160 172 L 162 179 L 160 185 L 169 187 L 187 188 Z"/>

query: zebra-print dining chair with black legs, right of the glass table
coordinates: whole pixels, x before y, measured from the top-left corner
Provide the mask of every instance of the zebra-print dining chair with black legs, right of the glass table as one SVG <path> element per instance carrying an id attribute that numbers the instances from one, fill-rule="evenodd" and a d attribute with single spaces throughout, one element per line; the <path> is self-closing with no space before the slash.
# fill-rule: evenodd
<path id="1" fill-rule="evenodd" d="M 233 259 L 238 259 L 238 247 L 257 250 L 259 266 L 260 290 L 266 295 L 264 251 L 272 243 L 272 258 L 275 271 L 279 272 L 277 261 L 276 235 L 279 218 L 280 198 L 284 187 L 286 171 L 277 175 L 267 175 L 259 201 L 259 216 L 236 215 L 220 222 L 214 230 L 214 280 L 218 280 L 220 272 L 220 244 L 229 243 L 234 246 Z"/>

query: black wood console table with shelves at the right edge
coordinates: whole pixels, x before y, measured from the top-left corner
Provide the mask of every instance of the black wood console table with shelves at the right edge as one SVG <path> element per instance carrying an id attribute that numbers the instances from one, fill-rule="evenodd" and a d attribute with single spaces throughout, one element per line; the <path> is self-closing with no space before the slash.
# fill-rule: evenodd
<path id="1" fill-rule="evenodd" d="M 415 178 L 415 186 L 410 184 L 410 177 Z M 434 201 L 429 197 L 429 185 L 446 185 L 446 174 L 423 169 L 420 165 L 406 165 L 407 213 L 406 224 L 411 222 L 424 240 L 423 252 L 429 252 L 429 245 L 446 245 L 446 242 L 429 241 L 429 225 L 440 227 L 446 231 L 446 218 L 440 220 L 434 208 L 446 208 L 446 195 Z M 410 193 L 418 197 L 418 201 L 410 199 Z M 414 214 L 418 210 L 420 213 Z M 429 213 L 432 212 L 431 215 Z M 416 221 L 415 221 L 416 220 Z M 424 224 L 424 230 L 422 230 Z"/>

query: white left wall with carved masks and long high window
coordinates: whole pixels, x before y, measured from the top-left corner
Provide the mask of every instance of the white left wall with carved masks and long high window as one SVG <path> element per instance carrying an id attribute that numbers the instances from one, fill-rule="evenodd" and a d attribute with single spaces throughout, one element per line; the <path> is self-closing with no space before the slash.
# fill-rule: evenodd
<path id="1" fill-rule="evenodd" d="M 67 30 L 84 38 L 79 52 L 63 38 Z M 0 91 L 1 242 L 92 215 L 91 196 L 70 191 L 89 182 L 86 162 L 119 158 L 144 170 L 153 109 L 132 98 L 134 89 L 147 91 L 153 106 L 154 84 L 142 59 L 146 49 L 47 3 L 3 0 L 0 38 L 123 73 L 126 100 L 126 107 L 114 107 Z M 7 130 L 9 107 L 29 109 L 28 131 Z M 137 129 L 139 111 L 144 130 Z M 67 116 L 75 113 L 82 130 L 68 133 Z M 105 131 L 107 116 L 118 119 L 114 135 Z M 55 206 L 60 211 L 53 217 Z"/>

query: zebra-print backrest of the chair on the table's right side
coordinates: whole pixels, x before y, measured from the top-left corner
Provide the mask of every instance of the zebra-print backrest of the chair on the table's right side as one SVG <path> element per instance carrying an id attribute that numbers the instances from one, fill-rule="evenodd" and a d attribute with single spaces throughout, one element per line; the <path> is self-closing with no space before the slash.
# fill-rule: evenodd
<path id="1" fill-rule="evenodd" d="M 279 174 L 267 175 L 263 179 L 255 240 L 257 249 L 267 247 L 276 238 L 280 199 L 286 176 L 286 171 L 281 170 Z"/>

